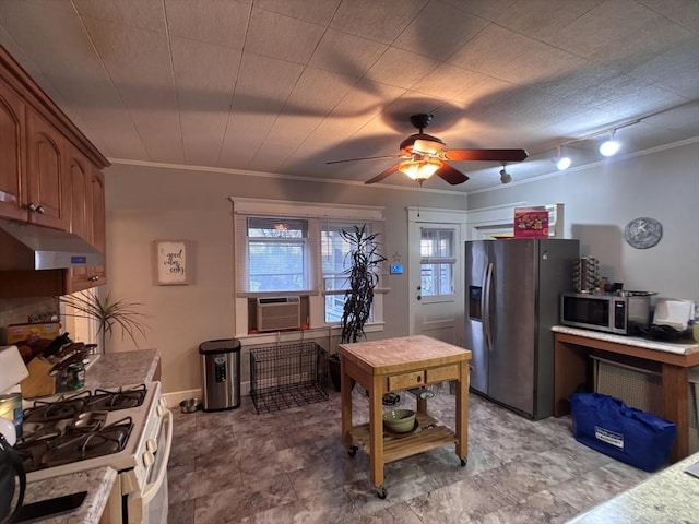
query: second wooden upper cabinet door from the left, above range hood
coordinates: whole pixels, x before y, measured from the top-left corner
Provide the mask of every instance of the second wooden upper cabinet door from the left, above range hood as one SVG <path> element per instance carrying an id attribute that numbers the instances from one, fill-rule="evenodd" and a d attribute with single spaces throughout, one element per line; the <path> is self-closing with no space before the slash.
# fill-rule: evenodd
<path id="1" fill-rule="evenodd" d="M 26 205 L 29 222 L 70 229 L 70 186 L 64 167 L 61 134 L 27 108 Z"/>

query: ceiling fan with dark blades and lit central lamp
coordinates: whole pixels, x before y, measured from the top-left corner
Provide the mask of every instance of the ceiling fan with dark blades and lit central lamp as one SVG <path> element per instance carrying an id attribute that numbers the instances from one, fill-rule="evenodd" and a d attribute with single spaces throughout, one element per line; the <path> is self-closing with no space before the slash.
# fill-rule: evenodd
<path id="1" fill-rule="evenodd" d="M 440 139 L 423 132 L 431 120 L 433 116 L 425 112 L 411 117 L 411 123 L 417 128 L 418 132 L 411 134 L 401 142 L 401 152 L 398 155 L 347 158 L 345 160 L 328 162 L 327 164 L 401 158 L 402 160 L 400 163 L 389 167 L 364 183 L 380 182 L 395 171 L 401 171 L 420 184 L 433 175 L 437 175 L 448 183 L 457 186 L 469 180 L 469 177 L 447 164 L 449 160 L 489 160 L 507 164 L 509 162 L 521 162 L 529 156 L 524 150 L 448 150 L 446 148 L 447 144 Z"/>

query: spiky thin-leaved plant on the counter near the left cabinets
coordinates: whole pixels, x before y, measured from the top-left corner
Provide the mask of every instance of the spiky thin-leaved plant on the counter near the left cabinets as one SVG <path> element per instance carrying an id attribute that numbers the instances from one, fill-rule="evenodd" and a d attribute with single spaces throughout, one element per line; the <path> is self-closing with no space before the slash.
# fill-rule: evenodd
<path id="1" fill-rule="evenodd" d="M 96 291 L 88 290 L 64 295 L 58 297 L 58 300 L 72 308 L 73 311 L 66 314 L 96 322 L 99 353 L 106 352 L 107 336 L 111 337 L 117 327 L 121 332 L 121 338 L 129 335 L 137 347 L 139 346 L 135 340 L 137 333 L 145 336 L 145 314 L 139 310 L 143 306 L 141 302 L 115 299 L 110 294 L 103 299 Z"/>

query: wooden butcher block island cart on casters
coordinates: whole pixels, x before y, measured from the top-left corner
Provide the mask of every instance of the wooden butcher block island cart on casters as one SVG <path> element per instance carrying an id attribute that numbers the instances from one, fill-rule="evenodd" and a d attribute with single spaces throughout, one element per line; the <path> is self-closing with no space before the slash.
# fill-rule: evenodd
<path id="1" fill-rule="evenodd" d="M 471 352 L 424 335 L 340 345 L 342 370 L 342 443 L 351 456 L 356 441 L 369 455 L 370 478 L 386 498 L 383 466 L 446 444 L 455 444 L 461 465 L 469 452 L 469 360 Z M 352 385 L 355 380 L 369 394 L 369 421 L 352 425 Z M 383 394 L 457 381 L 455 431 L 438 426 L 427 414 L 427 401 L 417 397 L 417 429 L 405 437 L 383 433 Z"/>

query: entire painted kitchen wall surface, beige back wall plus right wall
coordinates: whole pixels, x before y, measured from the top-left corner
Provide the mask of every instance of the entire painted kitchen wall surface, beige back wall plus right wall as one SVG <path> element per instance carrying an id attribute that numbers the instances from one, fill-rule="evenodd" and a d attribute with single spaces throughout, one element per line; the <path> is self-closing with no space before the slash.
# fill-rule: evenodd
<path id="1" fill-rule="evenodd" d="M 516 175 L 516 166 L 511 168 Z M 163 353 L 163 385 L 168 393 L 200 388 L 201 342 L 234 336 L 233 219 L 229 196 L 384 206 L 386 253 L 399 253 L 402 275 L 387 275 L 386 330 L 371 336 L 408 333 L 406 207 L 417 191 L 363 184 L 317 183 L 227 172 L 115 165 L 106 171 L 107 288 L 141 301 L 151 314 L 147 341 L 140 347 Z M 464 209 L 463 194 L 420 191 L 419 205 Z M 627 289 L 699 301 L 699 148 L 697 143 L 568 171 L 528 184 L 472 194 L 469 209 L 511 202 L 565 203 L 566 237 L 581 240 L 583 254 L 601 261 L 603 276 Z M 663 239 L 652 249 L 624 242 L 624 226 L 637 216 L 657 218 Z M 152 241 L 191 242 L 192 282 L 157 286 Z M 327 345 L 327 344 L 325 344 Z M 131 341 L 112 341 L 116 350 Z M 247 355 L 244 352 L 244 377 Z"/>

